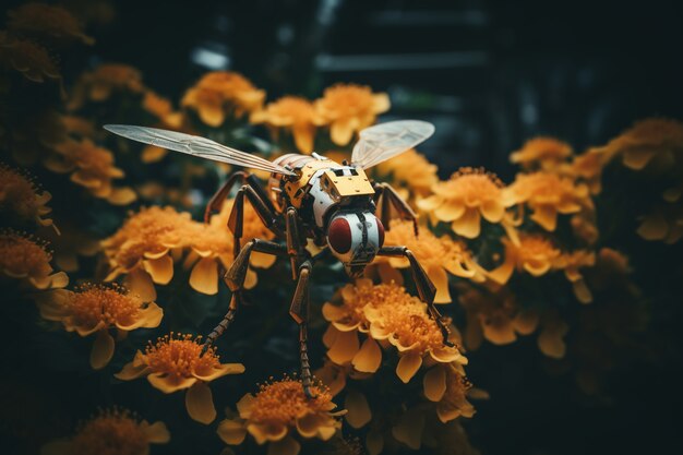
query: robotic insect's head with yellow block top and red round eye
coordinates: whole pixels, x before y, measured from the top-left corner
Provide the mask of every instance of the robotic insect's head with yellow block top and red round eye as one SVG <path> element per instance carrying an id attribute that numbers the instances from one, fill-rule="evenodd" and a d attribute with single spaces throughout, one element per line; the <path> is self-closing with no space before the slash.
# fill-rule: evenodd
<path id="1" fill-rule="evenodd" d="M 351 278 L 363 274 L 384 243 L 384 226 L 374 216 L 374 189 L 362 169 L 343 166 L 321 176 L 321 187 L 339 204 L 331 211 L 327 244 Z"/>

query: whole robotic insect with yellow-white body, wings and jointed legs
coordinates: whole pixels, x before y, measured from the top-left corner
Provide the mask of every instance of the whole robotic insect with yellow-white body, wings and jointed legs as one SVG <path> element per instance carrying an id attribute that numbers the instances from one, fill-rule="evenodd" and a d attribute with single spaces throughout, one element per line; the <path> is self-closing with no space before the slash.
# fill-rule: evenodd
<path id="1" fill-rule="evenodd" d="M 424 270 L 406 247 L 383 247 L 384 226 L 388 229 L 392 207 L 402 218 L 412 220 L 417 235 L 416 214 L 390 184 L 371 182 L 364 172 L 364 169 L 427 140 L 434 132 L 431 123 L 402 120 L 364 129 L 354 147 L 350 164 L 346 160 L 338 164 L 316 153 L 311 156 L 288 154 L 268 161 L 208 139 L 175 131 L 119 124 L 108 124 L 105 129 L 146 144 L 272 172 L 266 189 L 253 175 L 242 170 L 232 173 L 206 206 L 204 219 L 208 221 L 211 214 L 220 209 L 232 187 L 241 183 L 228 220 L 228 228 L 235 237 L 235 261 L 224 276 L 232 298 L 227 314 L 206 337 L 206 347 L 235 319 L 253 251 L 286 256 L 291 263 L 297 287 L 289 314 L 299 325 L 301 381 L 308 396 L 311 396 L 307 348 L 309 279 L 313 264 L 329 252 L 344 264 L 351 278 L 361 276 L 376 255 L 407 258 L 420 299 L 427 303 L 430 316 L 441 328 L 444 344 L 452 346 L 446 325 L 434 307 L 436 289 Z M 244 199 L 283 243 L 254 239 L 240 246 Z M 375 216 L 378 206 L 379 217 Z M 305 249 L 309 240 L 322 252 L 311 255 Z"/>

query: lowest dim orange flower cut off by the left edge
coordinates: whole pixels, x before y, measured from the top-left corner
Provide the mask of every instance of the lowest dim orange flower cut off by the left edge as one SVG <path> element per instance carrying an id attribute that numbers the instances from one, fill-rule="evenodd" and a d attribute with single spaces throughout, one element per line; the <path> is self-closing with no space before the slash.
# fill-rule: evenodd
<path id="1" fill-rule="evenodd" d="M 52 254 L 44 243 L 14 232 L 0 231 L 0 275 L 28 282 L 36 289 L 62 288 L 69 284 L 63 272 L 50 265 Z"/>

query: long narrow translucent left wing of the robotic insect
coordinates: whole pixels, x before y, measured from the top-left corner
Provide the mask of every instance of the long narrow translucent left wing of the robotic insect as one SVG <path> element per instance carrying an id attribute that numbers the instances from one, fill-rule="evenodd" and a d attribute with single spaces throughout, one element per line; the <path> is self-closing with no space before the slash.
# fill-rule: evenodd
<path id="1" fill-rule="evenodd" d="M 273 164 L 267 159 L 240 152 L 235 148 L 218 144 L 206 137 L 193 136 L 179 133 L 177 131 L 159 130 L 157 128 L 133 127 L 129 124 L 105 124 L 105 130 L 133 141 L 145 144 L 157 145 L 170 151 L 187 153 L 188 155 L 201 158 L 213 159 L 214 161 L 227 163 L 235 166 L 250 167 L 253 169 L 266 170 L 268 172 L 283 173 L 285 176 L 296 176 L 281 166 Z"/>

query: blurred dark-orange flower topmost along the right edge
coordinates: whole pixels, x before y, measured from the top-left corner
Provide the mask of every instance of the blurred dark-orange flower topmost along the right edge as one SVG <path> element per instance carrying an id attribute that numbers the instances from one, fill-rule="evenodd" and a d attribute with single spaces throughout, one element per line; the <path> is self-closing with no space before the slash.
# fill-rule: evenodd
<path id="1" fill-rule="evenodd" d="M 630 130 L 599 149 L 612 159 L 621 156 L 624 166 L 633 170 L 652 165 L 666 171 L 683 156 L 683 122 L 651 118 L 636 122 Z"/>

